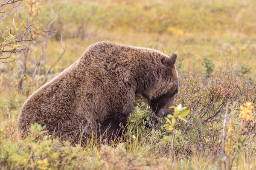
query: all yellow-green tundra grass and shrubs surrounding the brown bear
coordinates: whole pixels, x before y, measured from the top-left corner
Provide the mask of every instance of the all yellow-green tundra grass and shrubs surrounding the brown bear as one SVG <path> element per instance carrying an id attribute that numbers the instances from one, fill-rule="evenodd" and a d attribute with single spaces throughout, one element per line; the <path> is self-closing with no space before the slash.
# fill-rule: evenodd
<path id="1" fill-rule="evenodd" d="M 255 20 L 254 0 L 4 0 L 0 168 L 256 169 Z M 175 113 L 154 125 L 137 99 L 119 143 L 72 146 L 38 124 L 22 140 L 23 102 L 101 40 L 178 54 Z"/>

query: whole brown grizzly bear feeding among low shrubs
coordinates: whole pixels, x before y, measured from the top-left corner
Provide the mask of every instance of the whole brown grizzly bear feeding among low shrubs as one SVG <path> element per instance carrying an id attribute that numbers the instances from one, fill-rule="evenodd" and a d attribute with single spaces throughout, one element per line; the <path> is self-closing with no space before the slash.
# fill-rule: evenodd
<path id="1" fill-rule="evenodd" d="M 31 124 L 49 133 L 86 142 L 93 134 L 120 136 L 143 96 L 158 117 L 172 114 L 178 92 L 177 55 L 150 48 L 97 42 L 79 60 L 35 91 L 23 104 L 18 128 L 26 136 Z"/>

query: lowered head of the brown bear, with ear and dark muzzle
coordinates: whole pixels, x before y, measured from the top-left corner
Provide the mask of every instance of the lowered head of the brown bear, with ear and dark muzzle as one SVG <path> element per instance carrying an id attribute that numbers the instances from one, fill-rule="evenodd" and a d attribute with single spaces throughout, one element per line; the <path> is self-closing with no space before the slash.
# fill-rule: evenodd
<path id="1" fill-rule="evenodd" d="M 157 117 L 164 117 L 173 114 L 174 97 L 178 93 L 179 79 L 175 62 L 177 55 L 172 54 L 171 57 L 163 57 L 161 59 L 162 67 L 157 70 L 157 82 L 151 88 L 149 105 Z"/>

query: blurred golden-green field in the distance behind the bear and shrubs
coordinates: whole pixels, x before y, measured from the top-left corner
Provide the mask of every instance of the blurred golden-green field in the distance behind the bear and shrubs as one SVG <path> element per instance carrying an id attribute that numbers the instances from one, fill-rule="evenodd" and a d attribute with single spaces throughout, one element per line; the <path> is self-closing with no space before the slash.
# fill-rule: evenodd
<path id="1" fill-rule="evenodd" d="M 51 7 L 57 13 L 58 2 L 28 0 L 20 7 L 29 2 L 36 2 L 31 8 L 34 10 L 30 17 L 32 23 L 42 18 L 35 33 L 46 30 L 44 27 L 55 18 Z M 47 43 L 40 67 L 47 70 L 58 59 L 63 51 L 61 34 L 66 52 L 50 74 L 64 70 L 81 57 L 89 45 L 102 40 L 154 48 L 166 54 L 177 53 L 185 69 L 191 65 L 202 71 L 205 58 L 217 64 L 228 57 L 234 59 L 238 70 L 256 73 L 254 0 L 61 0 L 59 6 L 58 17 L 49 28 L 56 33 Z M 6 26 L 16 28 L 17 33 L 22 32 L 18 16 L 20 22 L 25 23 L 28 10 L 26 6 L 1 21 L 2 34 L 8 35 Z M 46 35 L 40 36 L 41 43 L 31 44 L 27 57 L 31 65 L 28 67 L 35 65 L 40 56 Z M 16 69 L 19 74 L 17 63 L 23 59 L 19 54 L 12 55 L 12 59 L 16 59 L 10 64 L 12 70 Z M 0 68 L 1 72 L 10 69 L 9 65 L 3 64 Z M 4 79 L 3 75 L 1 78 Z M 0 87 L 5 85 L 1 81 Z"/>

